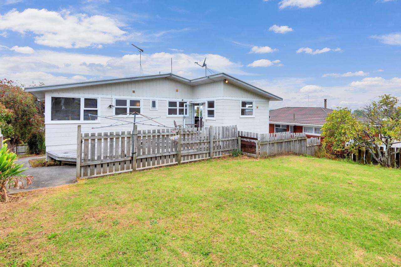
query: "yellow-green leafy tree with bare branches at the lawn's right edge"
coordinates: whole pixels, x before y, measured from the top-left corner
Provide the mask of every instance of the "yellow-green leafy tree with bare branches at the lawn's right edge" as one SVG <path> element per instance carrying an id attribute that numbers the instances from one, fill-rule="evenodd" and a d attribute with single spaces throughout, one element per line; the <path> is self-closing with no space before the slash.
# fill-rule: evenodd
<path id="1" fill-rule="evenodd" d="M 397 97 L 380 96 L 363 108 L 365 117 L 357 120 L 347 108 L 333 111 L 322 127 L 323 148 L 332 154 L 349 154 L 358 148 L 371 152 L 382 166 L 391 166 L 391 156 L 401 148 L 391 151 L 401 142 L 401 106 Z M 380 146 L 384 145 L 383 153 Z"/>

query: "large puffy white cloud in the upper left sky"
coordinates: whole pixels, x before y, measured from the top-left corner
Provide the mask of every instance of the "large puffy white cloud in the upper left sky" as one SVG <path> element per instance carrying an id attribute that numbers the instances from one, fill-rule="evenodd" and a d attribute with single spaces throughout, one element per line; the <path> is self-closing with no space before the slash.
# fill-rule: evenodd
<path id="1" fill-rule="evenodd" d="M 126 32 L 117 26 L 116 20 L 99 15 L 73 15 L 66 10 L 55 12 L 28 8 L 18 12 L 13 9 L 0 15 L 0 30 L 20 34 L 32 32 L 37 44 L 63 48 L 111 44 L 126 38 Z"/>

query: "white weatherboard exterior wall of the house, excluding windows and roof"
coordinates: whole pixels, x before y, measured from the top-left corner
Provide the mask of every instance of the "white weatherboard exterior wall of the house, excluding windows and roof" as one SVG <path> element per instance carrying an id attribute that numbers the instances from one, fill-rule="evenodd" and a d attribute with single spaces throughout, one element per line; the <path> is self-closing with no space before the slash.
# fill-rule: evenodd
<path id="1" fill-rule="evenodd" d="M 178 89 L 178 92 L 176 91 Z M 132 93 L 135 90 L 135 93 Z M 269 126 L 269 100 L 257 94 L 246 91 L 233 85 L 227 85 L 223 81 L 204 85 L 190 86 L 170 79 L 154 79 L 147 81 L 134 81 L 112 85 L 99 85 L 80 87 L 76 89 L 63 89 L 47 91 L 45 93 L 45 129 L 46 150 L 72 150 L 76 149 L 77 125 L 81 125 L 81 131 L 109 132 L 131 131 L 132 125 L 119 127 L 105 127 L 92 129 L 92 127 L 108 126 L 115 122 L 111 119 L 99 118 L 98 121 L 51 121 L 51 97 L 96 97 L 99 99 L 99 116 L 113 115 L 115 98 L 140 99 L 141 113 L 150 117 L 159 117 L 156 121 L 173 127 L 174 120 L 178 125 L 183 124 L 183 116 L 167 115 L 167 101 L 205 101 L 215 100 L 215 119 L 206 117 L 206 105 L 204 105 L 205 126 L 238 125 L 239 130 L 267 133 Z M 150 100 L 158 101 L 158 109 L 150 109 Z M 254 116 L 241 117 L 241 100 L 255 101 Z M 137 122 L 142 117 L 137 117 Z M 124 119 L 133 121 L 133 118 Z M 124 123 L 124 122 L 122 122 Z M 116 123 L 116 124 L 122 124 Z M 148 121 L 146 122 L 148 123 Z M 154 124 L 154 123 L 152 123 Z M 160 129 L 160 127 L 138 124 L 138 129 Z"/>

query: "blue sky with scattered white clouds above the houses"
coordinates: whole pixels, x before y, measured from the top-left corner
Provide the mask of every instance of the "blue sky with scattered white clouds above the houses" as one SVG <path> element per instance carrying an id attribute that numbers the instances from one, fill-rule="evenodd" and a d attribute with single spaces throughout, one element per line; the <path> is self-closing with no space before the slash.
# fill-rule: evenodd
<path id="1" fill-rule="evenodd" d="M 0 3 L 0 76 L 24 84 L 139 74 L 204 76 L 207 57 L 284 98 L 360 107 L 401 97 L 400 0 L 35 1 Z"/>

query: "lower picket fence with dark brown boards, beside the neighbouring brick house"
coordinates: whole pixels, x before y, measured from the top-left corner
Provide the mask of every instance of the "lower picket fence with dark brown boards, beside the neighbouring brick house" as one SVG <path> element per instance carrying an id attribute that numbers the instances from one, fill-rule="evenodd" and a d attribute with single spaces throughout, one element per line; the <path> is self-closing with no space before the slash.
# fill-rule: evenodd
<path id="1" fill-rule="evenodd" d="M 320 148 L 319 138 L 306 138 L 305 133 L 238 133 L 241 152 L 249 156 L 267 157 L 284 153 L 308 154 L 313 156 Z"/>

